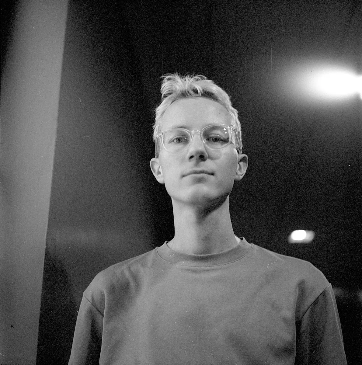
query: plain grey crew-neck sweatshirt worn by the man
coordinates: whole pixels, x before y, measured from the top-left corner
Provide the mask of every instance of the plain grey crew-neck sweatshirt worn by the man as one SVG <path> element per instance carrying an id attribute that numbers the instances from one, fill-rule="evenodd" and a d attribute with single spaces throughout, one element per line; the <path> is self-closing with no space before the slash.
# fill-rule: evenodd
<path id="1" fill-rule="evenodd" d="M 244 238 L 189 255 L 161 247 L 84 291 L 70 365 L 344 365 L 334 293 L 307 261 Z"/>

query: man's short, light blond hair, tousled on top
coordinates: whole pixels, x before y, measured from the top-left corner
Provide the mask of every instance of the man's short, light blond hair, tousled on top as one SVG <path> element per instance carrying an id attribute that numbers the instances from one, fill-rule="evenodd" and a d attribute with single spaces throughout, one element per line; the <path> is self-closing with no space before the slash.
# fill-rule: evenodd
<path id="1" fill-rule="evenodd" d="M 242 132 L 238 111 L 232 107 L 230 96 L 212 80 L 208 80 L 203 75 L 187 74 L 180 76 L 177 72 L 167 73 L 162 76 L 161 95 L 161 103 L 155 110 L 155 123 L 153 125 L 156 157 L 158 157 L 160 149 L 157 135 L 161 132 L 163 114 L 176 100 L 188 97 L 206 97 L 223 105 L 231 116 L 232 125 L 236 127 L 235 137 L 239 139 L 240 148 L 242 147 Z"/>

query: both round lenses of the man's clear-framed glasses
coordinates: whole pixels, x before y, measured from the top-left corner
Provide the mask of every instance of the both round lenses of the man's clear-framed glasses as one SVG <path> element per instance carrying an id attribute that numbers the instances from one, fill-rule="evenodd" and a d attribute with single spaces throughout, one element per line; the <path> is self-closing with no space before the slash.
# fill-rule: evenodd
<path id="1" fill-rule="evenodd" d="M 169 152 L 176 153 L 187 147 L 191 141 L 191 132 L 185 129 L 165 131 L 162 135 L 163 145 Z M 201 138 L 211 149 L 220 149 L 230 143 L 230 133 L 225 126 L 209 126 L 201 131 Z"/>

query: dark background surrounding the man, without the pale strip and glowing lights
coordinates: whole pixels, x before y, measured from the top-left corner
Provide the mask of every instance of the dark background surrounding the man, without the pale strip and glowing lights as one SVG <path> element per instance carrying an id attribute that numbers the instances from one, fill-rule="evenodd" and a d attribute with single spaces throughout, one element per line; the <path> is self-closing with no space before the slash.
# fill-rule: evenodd
<path id="1" fill-rule="evenodd" d="M 239 111 L 249 168 L 231 194 L 235 234 L 325 274 L 348 363 L 361 361 L 361 100 L 308 104 L 276 86 L 300 59 L 361 74 L 360 43 L 358 1 L 69 1 L 37 363 L 68 362 L 100 270 L 173 237 L 149 161 L 160 76 L 176 71 L 214 80 Z M 295 229 L 315 239 L 290 245 Z"/>

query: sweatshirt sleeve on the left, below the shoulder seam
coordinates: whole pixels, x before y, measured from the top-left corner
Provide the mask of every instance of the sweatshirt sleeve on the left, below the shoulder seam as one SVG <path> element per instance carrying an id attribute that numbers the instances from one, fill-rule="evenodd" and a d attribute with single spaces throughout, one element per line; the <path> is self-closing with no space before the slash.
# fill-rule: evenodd
<path id="1" fill-rule="evenodd" d="M 99 364 L 102 331 L 103 315 L 83 295 L 68 364 Z"/>

